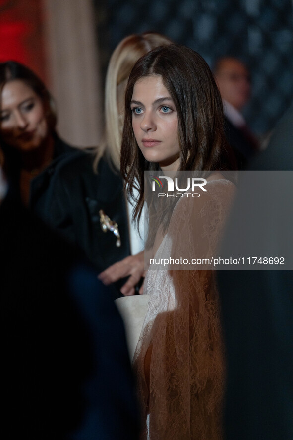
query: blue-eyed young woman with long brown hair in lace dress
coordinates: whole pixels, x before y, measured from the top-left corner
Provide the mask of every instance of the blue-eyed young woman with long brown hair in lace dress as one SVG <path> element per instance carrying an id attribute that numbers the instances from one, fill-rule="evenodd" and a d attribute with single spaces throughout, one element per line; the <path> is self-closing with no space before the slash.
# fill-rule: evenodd
<path id="1" fill-rule="evenodd" d="M 199 243 L 215 250 L 234 193 L 224 174 L 233 167 L 221 96 L 203 58 L 180 45 L 142 57 L 126 88 L 121 171 L 130 199 L 139 189 L 137 219 L 145 201 L 148 205 L 148 248 L 154 257 L 181 252 L 191 258 Z M 166 215 L 158 200 L 145 196 L 145 171 L 152 176 L 203 172 L 207 191 L 177 199 Z M 145 438 L 220 439 L 224 368 L 214 272 L 152 269 L 145 279 L 149 306 L 134 355 L 148 420 Z"/>

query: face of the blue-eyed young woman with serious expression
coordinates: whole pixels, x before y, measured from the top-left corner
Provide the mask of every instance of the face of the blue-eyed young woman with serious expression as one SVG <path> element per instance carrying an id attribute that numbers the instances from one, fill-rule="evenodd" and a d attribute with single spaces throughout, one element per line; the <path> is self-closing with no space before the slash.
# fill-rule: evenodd
<path id="1" fill-rule="evenodd" d="M 178 117 L 161 75 L 139 79 L 131 99 L 132 128 L 136 142 L 149 162 L 162 170 L 179 166 Z"/>

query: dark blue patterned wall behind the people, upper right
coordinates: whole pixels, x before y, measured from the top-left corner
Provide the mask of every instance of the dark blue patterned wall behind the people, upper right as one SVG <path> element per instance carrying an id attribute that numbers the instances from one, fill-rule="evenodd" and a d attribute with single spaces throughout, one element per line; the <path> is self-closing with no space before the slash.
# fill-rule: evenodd
<path id="1" fill-rule="evenodd" d="M 293 99 L 292 0 L 93 0 L 102 77 L 112 51 L 132 33 L 156 31 L 199 52 L 212 66 L 223 55 L 252 76 L 244 116 L 265 135 Z"/>

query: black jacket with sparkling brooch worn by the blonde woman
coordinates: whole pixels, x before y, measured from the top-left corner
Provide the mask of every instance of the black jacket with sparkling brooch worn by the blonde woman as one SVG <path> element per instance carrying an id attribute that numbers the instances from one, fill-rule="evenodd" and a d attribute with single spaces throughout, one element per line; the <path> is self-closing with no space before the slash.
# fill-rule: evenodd
<path id="1" fill-rule="evenodd" d="M 93 170 L 94 155 L 80 151 L 56 167 L 43 218 L 69 242 L 77 245 L 102 271 L 130 254 L 123 181 L 103 158 Z M 121 237 L 102 231 L 100 210 L 116 221 Z"/>

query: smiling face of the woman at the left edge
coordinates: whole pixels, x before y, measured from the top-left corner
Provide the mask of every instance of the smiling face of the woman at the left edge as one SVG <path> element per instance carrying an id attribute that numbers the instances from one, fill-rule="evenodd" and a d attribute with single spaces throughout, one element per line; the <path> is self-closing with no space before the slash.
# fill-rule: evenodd
<path id="1" fill-rule="evenodd" d="M 31 151 L 48 136 L 43 102 L 25 82 L 15 79 L 4 85 L 0 108 L 0 135 L 11 147 Z"/>

